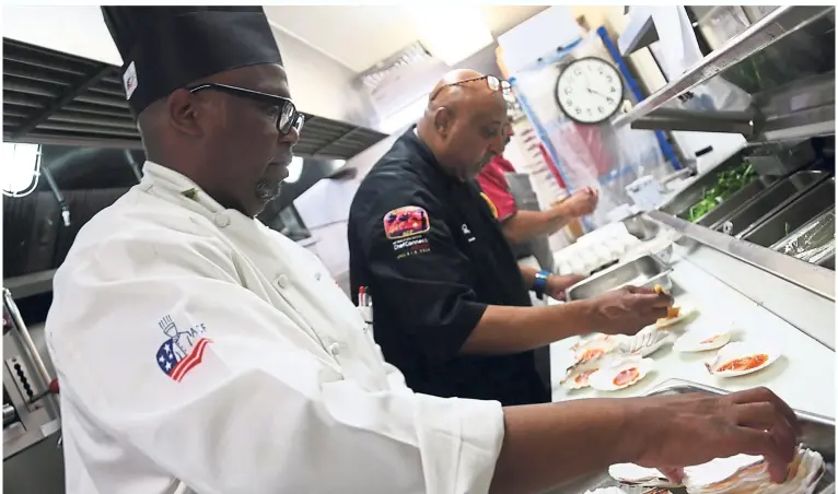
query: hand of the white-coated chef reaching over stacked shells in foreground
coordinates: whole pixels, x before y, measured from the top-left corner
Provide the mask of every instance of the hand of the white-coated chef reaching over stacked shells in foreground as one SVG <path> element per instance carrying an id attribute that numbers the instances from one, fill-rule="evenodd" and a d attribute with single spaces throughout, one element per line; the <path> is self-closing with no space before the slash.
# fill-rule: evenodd
<path id="1" fill-rule="evenodd" d="M 764 456 L 771 480 L 783 482 L 801 433 L 792 409 L 766 388 L 642 398 L 633 407 L 626 425 L 642 444 L 636 462 L 676 481 L 683 467 L 746 454 Z"/>

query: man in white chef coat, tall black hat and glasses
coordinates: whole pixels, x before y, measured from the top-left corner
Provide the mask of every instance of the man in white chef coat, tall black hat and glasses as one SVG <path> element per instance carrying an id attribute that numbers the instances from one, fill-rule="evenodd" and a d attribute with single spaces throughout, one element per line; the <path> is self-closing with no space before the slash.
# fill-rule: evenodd
<path id="1" fill-rule="evenodd" d="M 740 451 L 782 480 L 796 421 L 765 389 L 511 408 L 414 393 L 315 256 L 254 220 L 302 124 L 261 9 L 103 11 L 149 162 L 55 277 L 68 493 L 523 494 Z"/>

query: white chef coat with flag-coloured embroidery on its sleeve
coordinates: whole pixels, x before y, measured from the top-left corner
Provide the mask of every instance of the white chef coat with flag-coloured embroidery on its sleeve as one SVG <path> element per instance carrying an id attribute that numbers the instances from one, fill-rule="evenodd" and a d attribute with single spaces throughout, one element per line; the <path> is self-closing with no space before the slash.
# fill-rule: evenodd
<path id="1" fill-rule="evenodd" d="M 181 174 L 146 163 L 54 283 L 70 494 L 488 491 L 500 404 L 415 395 L 316 256 Z"/>

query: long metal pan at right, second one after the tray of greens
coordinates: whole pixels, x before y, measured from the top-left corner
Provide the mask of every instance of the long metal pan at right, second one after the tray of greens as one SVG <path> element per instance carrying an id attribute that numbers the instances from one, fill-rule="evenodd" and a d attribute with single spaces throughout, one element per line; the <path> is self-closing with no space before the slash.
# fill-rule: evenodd
<path id="1" fill-rule="evenodd" d="M 835 177 L 822 181 L 761 225 L 742 233 L 742 239 L 771 247 L 808 223 L 815 215 L 835 207 Z"/>

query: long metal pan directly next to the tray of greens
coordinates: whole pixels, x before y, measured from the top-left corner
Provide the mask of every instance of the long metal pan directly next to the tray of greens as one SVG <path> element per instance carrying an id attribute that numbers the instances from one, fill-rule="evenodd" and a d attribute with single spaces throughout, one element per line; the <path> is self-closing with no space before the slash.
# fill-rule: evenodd
<path id="1" fill-rule="evenodd" d="M 828 176 L 825 172 L 798 172 L 710 227 L 738 237 L 752 226 L 763 224 Z"/>

